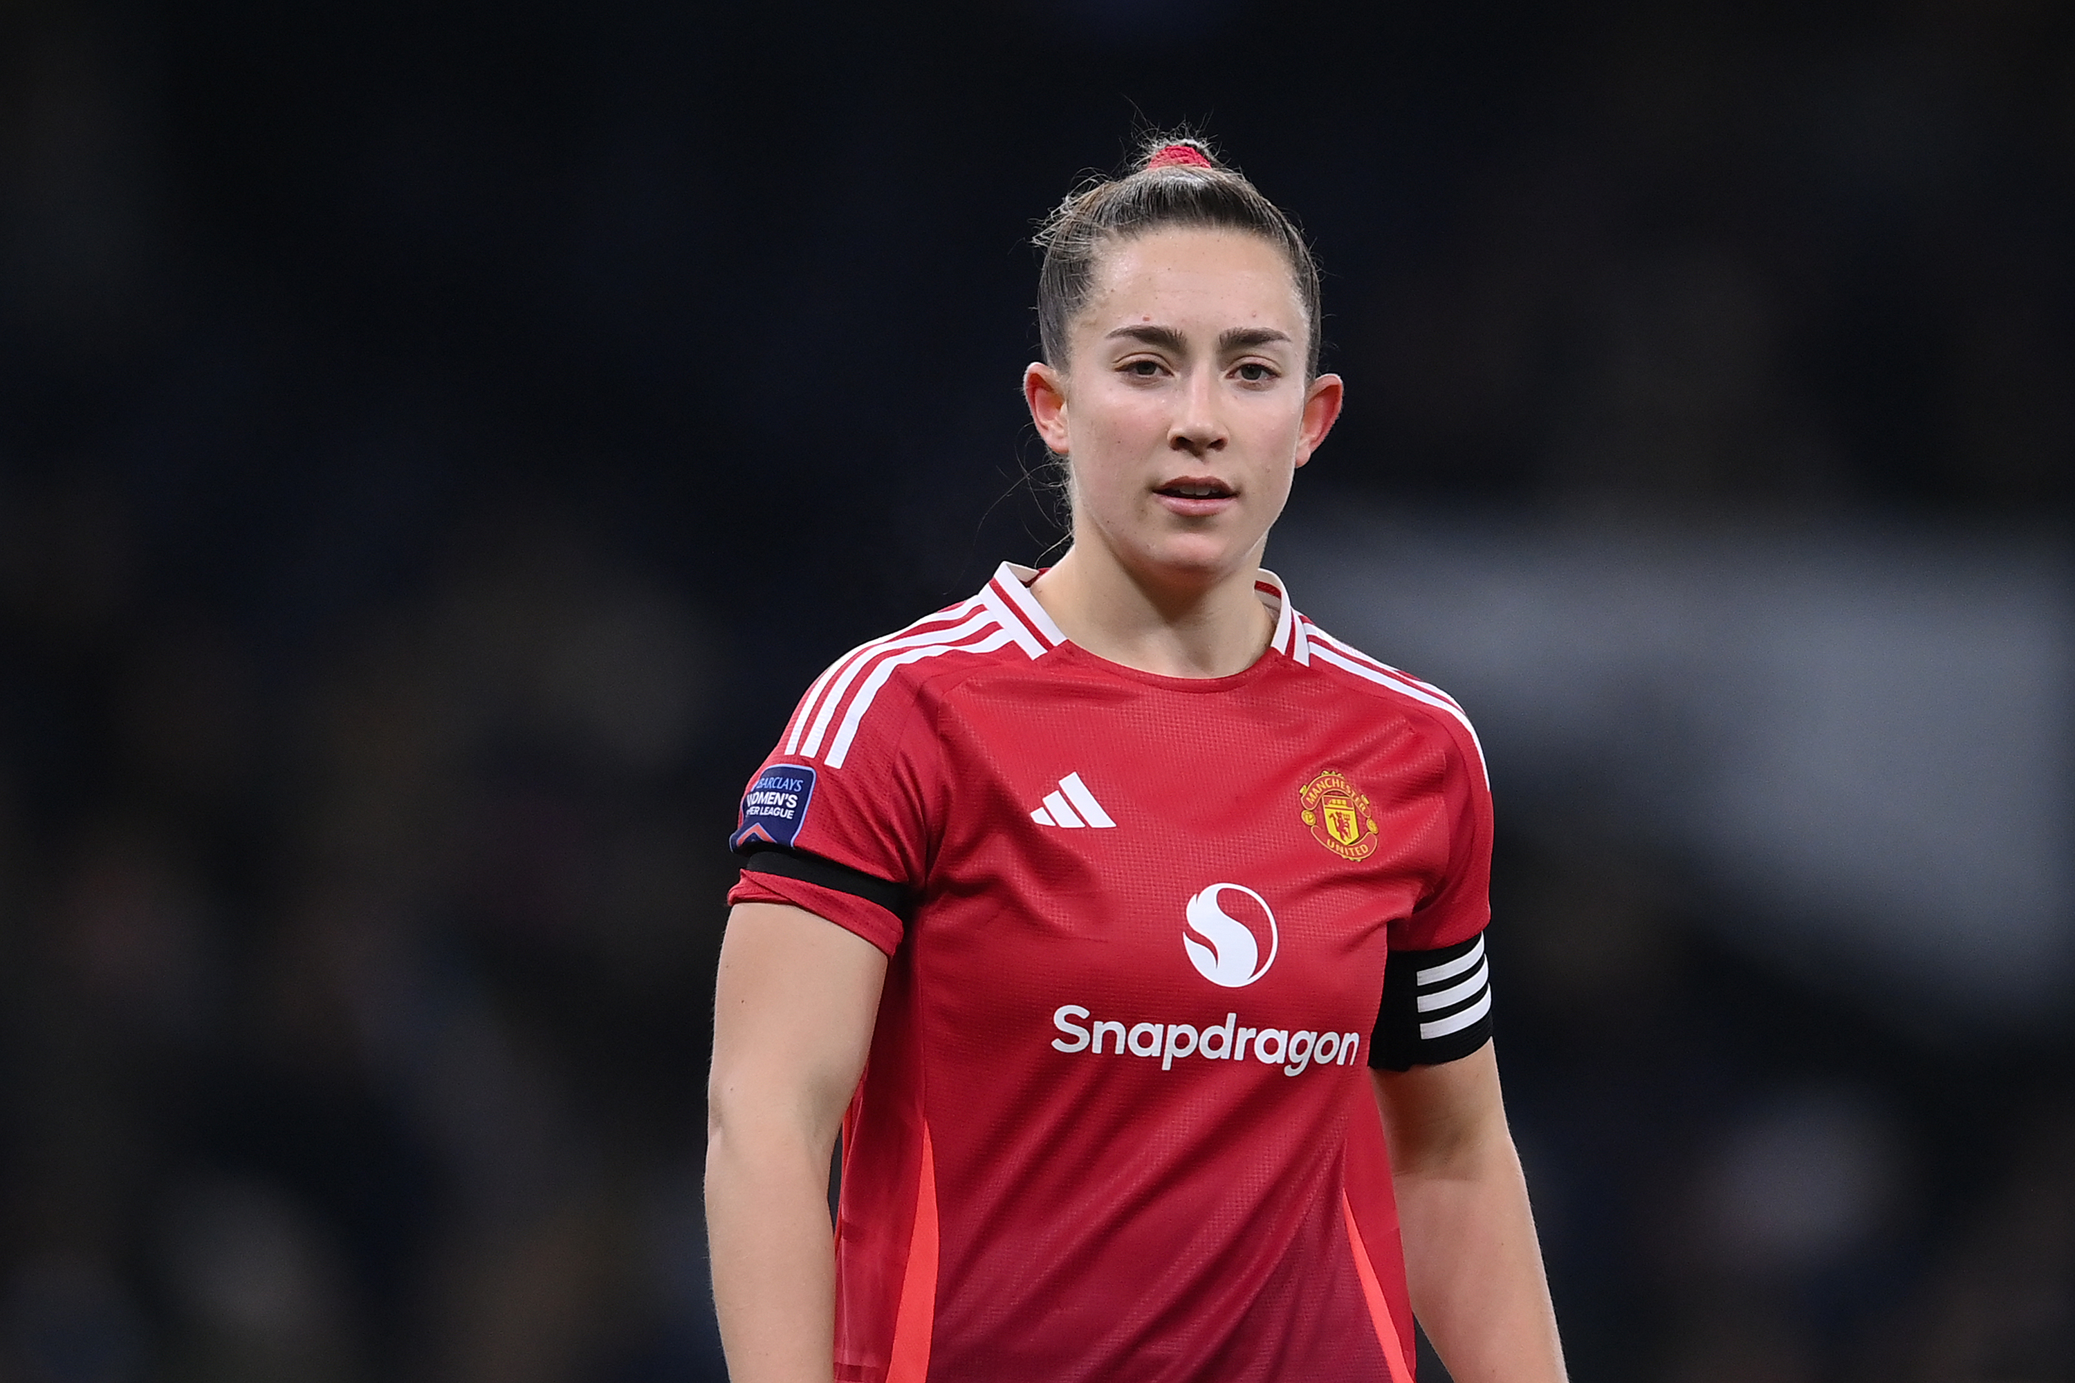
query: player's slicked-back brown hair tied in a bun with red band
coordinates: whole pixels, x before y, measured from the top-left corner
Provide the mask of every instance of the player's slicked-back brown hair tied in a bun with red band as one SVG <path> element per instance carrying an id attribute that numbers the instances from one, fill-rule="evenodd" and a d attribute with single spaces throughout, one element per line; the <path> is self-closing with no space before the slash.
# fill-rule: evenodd
<path id="1" fill-rule="evenodd" d="M 1038 270 L 1038 340 L 1048 365 L 1067 365 L 1067 332 L 1087 307 L 1096 261 L 1108 243 L 1162 226 L 1245 230 L 1282 251 L 1309 328 L 1305 377 L 1318 375 L 1320 297 L 1311 247 L 1282 207 L 1189 135 L 1154 135 L 1131 172 L 1083 185 L 1046 218 L 1038 232 L 1038 245 L 1044 247 L 1044 267 Z"/>

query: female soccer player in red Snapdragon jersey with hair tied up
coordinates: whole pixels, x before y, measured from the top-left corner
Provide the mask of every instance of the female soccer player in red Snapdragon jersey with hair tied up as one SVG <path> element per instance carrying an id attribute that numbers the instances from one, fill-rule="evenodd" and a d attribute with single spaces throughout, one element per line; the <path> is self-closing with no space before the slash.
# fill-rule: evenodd
<path id="1" fill-rule="evenodd" d="M 838 659 L 743 798 L 730 1375 L 1411 1383 L 1417 1310 L 1461 1383 L 1560 1379 L 1475 734 L 1260 564 L 1340 411 L 1311 255 L 1195 141 L 1042 243 L 1073 547 Z"/>

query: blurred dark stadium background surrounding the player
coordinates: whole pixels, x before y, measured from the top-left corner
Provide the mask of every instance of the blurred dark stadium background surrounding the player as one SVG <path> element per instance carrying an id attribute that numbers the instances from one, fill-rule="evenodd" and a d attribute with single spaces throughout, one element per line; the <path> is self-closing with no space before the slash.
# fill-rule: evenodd
<path id="1" fill-rule="evenodd" d="M 720 1377 L 737 792 L 1056 539 L 1031 224 L 1328 272 L 1573 1375 L 2075 1379 L 2048 0 L 0 8 L 0 1379 Z M 1438 1377 L 1438 1373 L 1436 1373 Z"/>

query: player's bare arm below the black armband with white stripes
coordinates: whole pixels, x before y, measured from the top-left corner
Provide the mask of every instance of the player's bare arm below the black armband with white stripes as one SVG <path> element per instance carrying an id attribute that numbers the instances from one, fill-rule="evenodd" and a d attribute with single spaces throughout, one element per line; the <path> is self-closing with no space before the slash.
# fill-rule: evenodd
<path id="1" fill-rule="evenodd" d="M 1457 1383 L 1562 1383 L 1556 1313 L 1492 1045 L 1370 1072 L 1390 1140 L 1413 1315 Z"/>

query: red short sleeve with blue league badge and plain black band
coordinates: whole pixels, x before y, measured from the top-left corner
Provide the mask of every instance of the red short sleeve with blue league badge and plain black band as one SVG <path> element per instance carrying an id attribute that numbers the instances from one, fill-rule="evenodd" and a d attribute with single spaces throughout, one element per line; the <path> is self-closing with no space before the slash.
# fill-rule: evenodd
<path id="1" fill-rule="evenodd" d="M 940 751 L 898 678 L 878 688 L 851 734 L 815 736 L 820 686 L 743 790 L 728 838 L 743 875 L 728 902 L 793 904 L 892 954 L 905 935 L 903 900 L 921 894 L 932 856 Z"/>

